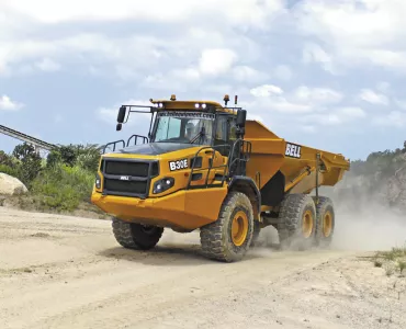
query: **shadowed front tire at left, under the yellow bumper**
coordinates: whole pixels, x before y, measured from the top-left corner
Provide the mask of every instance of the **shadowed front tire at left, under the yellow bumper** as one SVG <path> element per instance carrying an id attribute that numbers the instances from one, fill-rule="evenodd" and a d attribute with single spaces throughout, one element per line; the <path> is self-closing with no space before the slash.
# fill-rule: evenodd
<path id="1" fill-rule="evenodd" d="M 148 250 L 154 248 L 162 236 L 163 228 L 127 223 L 116 217 L 112 219 L 116 241 L 128 249 Z"/>

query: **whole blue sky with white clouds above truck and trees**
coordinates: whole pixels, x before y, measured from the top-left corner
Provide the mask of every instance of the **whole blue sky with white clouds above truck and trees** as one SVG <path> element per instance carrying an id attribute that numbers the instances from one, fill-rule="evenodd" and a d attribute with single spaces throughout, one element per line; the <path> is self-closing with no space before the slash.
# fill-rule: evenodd
<path id="1" fill-rule="evenodd" d="M 406 140 L 404 0 L 0 0 L 0 124 L 53 144 L 115 131 L 121 104 L 238 94 L 287 141 L 351 160 Z M 19 140 L 0 135 L 0 149 Z"/>

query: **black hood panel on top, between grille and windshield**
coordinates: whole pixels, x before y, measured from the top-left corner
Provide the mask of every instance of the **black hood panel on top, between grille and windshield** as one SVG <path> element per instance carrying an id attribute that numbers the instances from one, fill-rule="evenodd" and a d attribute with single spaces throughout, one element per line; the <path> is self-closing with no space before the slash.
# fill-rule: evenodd
<path id="1" fill-rule="evenodd" d="M 188 149 L 192 147 L 196 147 L 196 145 L 183 143 L 150 143 L 126 147 L 115 151 L 114 154 L 159 156 L 171 151 Z"/>

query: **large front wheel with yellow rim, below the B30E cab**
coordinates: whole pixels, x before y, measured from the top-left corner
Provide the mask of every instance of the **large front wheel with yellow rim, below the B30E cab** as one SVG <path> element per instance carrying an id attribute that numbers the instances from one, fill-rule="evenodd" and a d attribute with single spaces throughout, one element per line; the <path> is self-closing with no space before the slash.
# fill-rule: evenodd
<path id="1" fill-rule="evenodd" d="M 223 262 L 239 261 L 247 253 L 253 232 L 253 211 L 248 196 L 229 192 L 218 219 L 200 230 L 203 254 Z"/>

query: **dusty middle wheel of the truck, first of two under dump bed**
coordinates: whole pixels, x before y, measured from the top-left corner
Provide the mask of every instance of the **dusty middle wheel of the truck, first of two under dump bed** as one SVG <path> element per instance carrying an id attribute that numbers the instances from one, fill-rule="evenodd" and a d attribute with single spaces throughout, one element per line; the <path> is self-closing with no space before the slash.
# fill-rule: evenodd
<path id="1" fill-rule="evenodd" d="M 307 194 L 287 194 L 281 203 L 278 234 L 282 249 L 305 250 L 315 245 L 316 206 Z"/>

